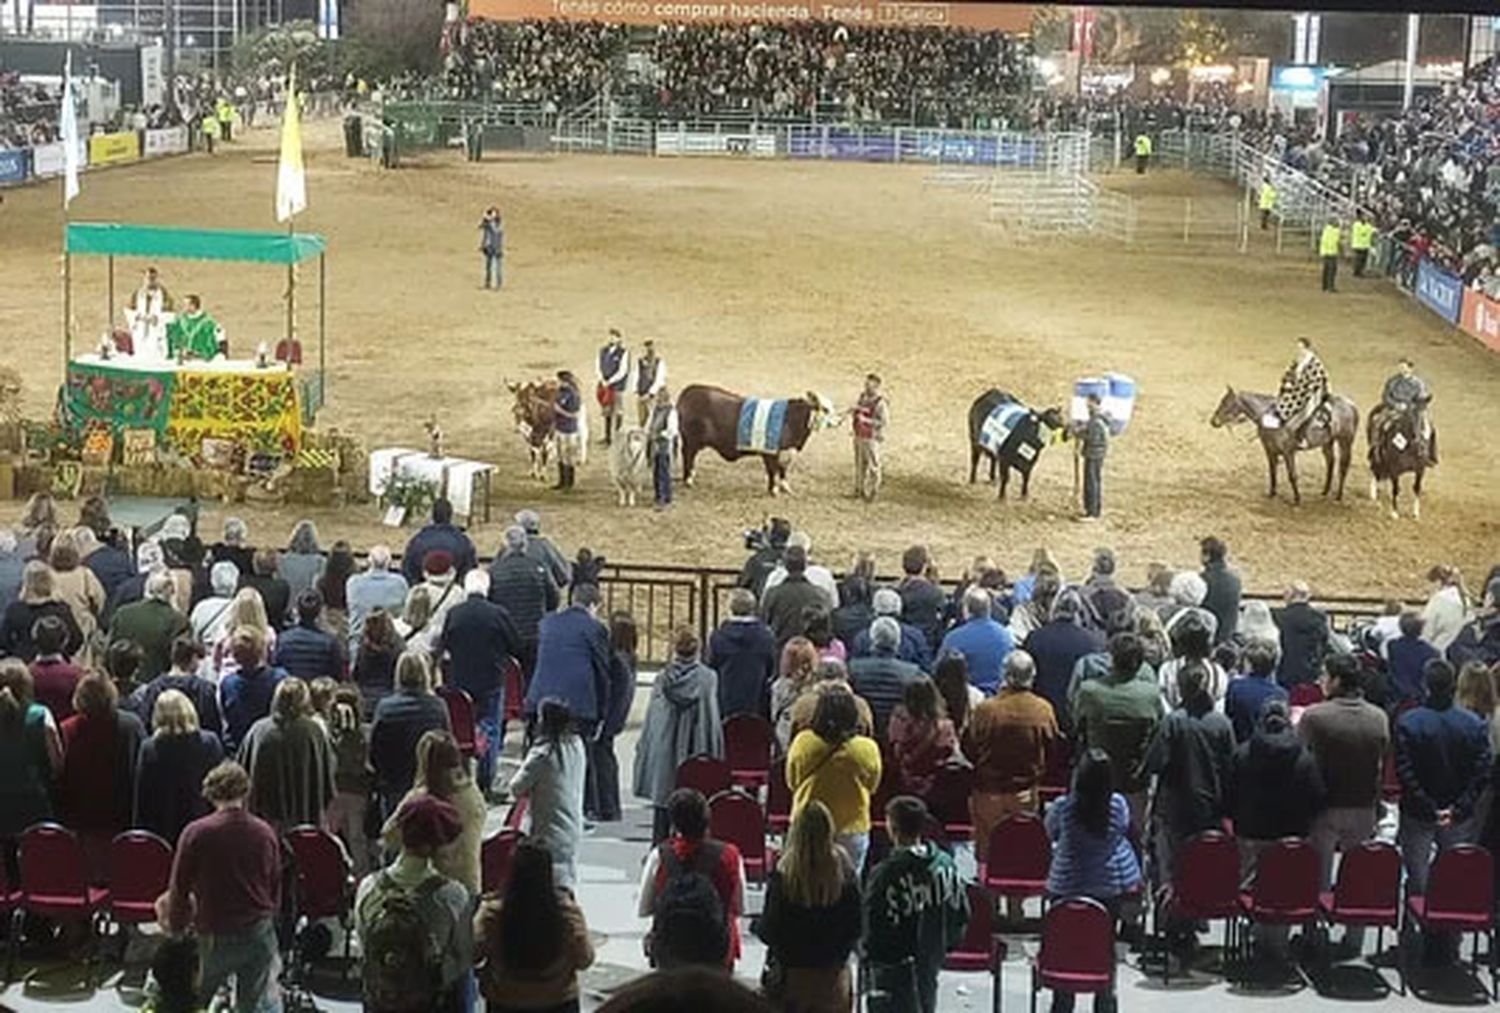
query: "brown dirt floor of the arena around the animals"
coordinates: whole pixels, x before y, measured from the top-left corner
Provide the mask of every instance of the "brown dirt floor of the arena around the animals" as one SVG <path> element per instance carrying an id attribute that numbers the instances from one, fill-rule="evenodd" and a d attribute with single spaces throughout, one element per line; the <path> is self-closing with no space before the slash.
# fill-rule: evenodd
<path id="1" fill-rule="evenodd" d="M 1228 539 L 1257 590 L 1306 578 L 1324 594 L 1414 596 L 1434 561 L 1456 561 L 1476 579 L 1500 561 L 1500 359 L 1388 284 L 1346 275 L 1340 294 L 1320 294 L 1316 263 L 1275 257 L 1258 233 L 1248 257 L 1227 236 L 1218 246 L 1131 252 L 1016 245 L 986 222 L 981 198 L 924 188 L 920 167 L 495 155 L 470 165 L 447 152 L 382 173 L 342 158 L 338 144 L 334 123 L 310 131 L 310 207 L 298 222 L 330 249 L 324 422 L 370 447 L 423 446 L 422 422 L 436 414 L 453 453 L 498 462 L 484 551 L 504 516 L 537 506 L 566 546 L 620 561 L 736 566 L 740 530 L 772 512 L 807 528 L 814 557 L 836 567 L 874 549 L 882 570 L 894 570 L 903 546 L 926 542 L 945 575 L 975 554 L 1018 572 L 1041 543 L 1078 575 L 1094 546 L 1112 545 L 1137 581 L 1149 560 L 1196 564 L 1196 542 L 1209 533 Z M 274 132 L 260 131 L 216 158 L 90 174 L 74 218 L 274 228 L 273 146 Z M 1154 221 L 1170 224 L 1186 197 L 1198 216 L 1233 219 L 1236 195 L 1214 182 L 1161 173 L 1107 185 L 1137 192 Z M 498 294 L 482 290 L 476 252 L 492 203 L 506 212 L 508 242 Z M 0 206 L 0 362 L 20 368 L 36 413 L 62 375 L 58 204 L 54 183 L 8 192 Z M 141 267 L 120 264 L 122 303 Z M 178 296 L 204 294 L 237 354 L 278 336 L 278 270 L 168 263 L 164 272 Z M 315 291 L 304 284 L 300 302 L 309 354 Z M 78 263 L 86 345 L 104 327 L 105 302 L 102 263 Z M 620 510 L 597 446 L 574 494 L 544 491 L 526 477 L 502 384 L 560 366 L 591 378 L 610 326 L 632 347 L 654 338 L 674 389 L 812 389 L 846 407 L 864 372 L 880 372 L 891 399 L 880 501 L 850 498 L 848 429 L 812 441 L 790 500 L 765 497 L 758 462 L 710 455 L 674 510 Z M 1362 410 L 1402 354 L 1436 387 L 1443 465 L 1420 522 L 1390 521 L 1366 500 L 1364 440 L 1344 503 L 1317 495 L 1314 455 L 1302 459 L 1311 495 L 1293 509 L 1266 498 L 1248 429 L 1209 428 L 1224 384 L 1272 389 L 1298 335 L 1318 345 L 1335 389 Z M 1102 524 L 1071 519 L 1068 449 L 1046 453 L 1026 503 L 999 504 L 992 488 L 966 483 L 975 395 L 1000 386 L 1059 404 L 1076 377 L 1107 369 L 1136 377 L 1140 399 L 1110 450 Z M 0 521 L 15 512 L 0 504 Z M 234 512 L 258 542 L 282 539 L 300 513 Z M 224 513 L 210 510 L 210 525 Z M 326 540 L 402 540 L 380 527 L 375 506 L 310 516 Z"/>

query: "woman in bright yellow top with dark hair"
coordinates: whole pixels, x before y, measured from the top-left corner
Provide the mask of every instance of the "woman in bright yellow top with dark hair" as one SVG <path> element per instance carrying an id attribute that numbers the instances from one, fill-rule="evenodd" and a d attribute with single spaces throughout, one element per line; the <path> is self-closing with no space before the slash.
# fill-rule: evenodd
<path id="1" fill-rule="evenodd" d="M 800 731 L 786 753 L 792 818 L 814 798 L 828 806 L 856 873 L 870 849 L 870 794 L 880 785 L 880 747 L 858 728 L 854 690 L 832 684 L 818 699 L 812 728 Z"/>

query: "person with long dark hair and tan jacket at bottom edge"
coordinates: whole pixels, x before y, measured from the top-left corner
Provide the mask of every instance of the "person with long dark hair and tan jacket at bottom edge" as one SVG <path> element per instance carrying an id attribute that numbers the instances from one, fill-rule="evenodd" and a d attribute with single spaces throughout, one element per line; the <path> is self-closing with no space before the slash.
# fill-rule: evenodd
<path id="1" fill-rule="evenodd" d="M 516 845 L 501 896 L 474 917 L 474 951 L 488 1013 L 578 1013 L 578 972 L 594 944 L 573 893 L 552 878 L 554 855 Z"/>

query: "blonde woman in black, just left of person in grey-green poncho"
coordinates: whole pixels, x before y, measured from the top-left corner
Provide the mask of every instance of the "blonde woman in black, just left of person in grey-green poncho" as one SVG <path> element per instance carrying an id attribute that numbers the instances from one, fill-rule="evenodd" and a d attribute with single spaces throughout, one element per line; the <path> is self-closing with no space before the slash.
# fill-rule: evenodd
<path id="1" fill-rule="evenodd" d="M 135 824 L 176 843 L 183 827 L 208 815 L 202 777 L 224 759 L 213 732 L 198 728 L 186 693 L 168 689 L 152 710 L 152 735 L 135 765 Z"/>

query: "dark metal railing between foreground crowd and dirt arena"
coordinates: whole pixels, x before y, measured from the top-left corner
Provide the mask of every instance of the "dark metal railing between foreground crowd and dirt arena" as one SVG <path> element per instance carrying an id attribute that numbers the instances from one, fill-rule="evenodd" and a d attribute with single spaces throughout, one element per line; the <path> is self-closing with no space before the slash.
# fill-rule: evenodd
<path id="1" fill-rule="evenodd" d="M 837 576 L 843 579 L 843 575 Z M 672 657 L 672 632 L 680 626 L 690 627 L 700 644 L 708 644 L 708 636 L 729 612 L 729 593 L 738 579 L 738 570 L 722 567 L 609 563 L 600 573 L 602 611 L 630 612 L 640 632 L 640 662 L 663 665 Z M 894 576 L 882 578 L 882 584 L 896 582 Z M 958 587 L 957 581 L 940 584 L 950 594 Z M 1282 597 L 1245 591 L 1244 600 L 1266 602 L 1275 611 Z M 1328 614 L 1335 630 L 1347 632 L 1354 623 L 1384 614 L 1386 599 L 1335 596 L 1322 597 L 1314 605 Z M 1420 603 L 1408 605 L 1416 608 Z"/>

